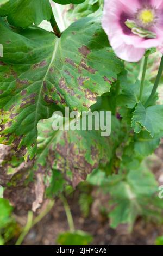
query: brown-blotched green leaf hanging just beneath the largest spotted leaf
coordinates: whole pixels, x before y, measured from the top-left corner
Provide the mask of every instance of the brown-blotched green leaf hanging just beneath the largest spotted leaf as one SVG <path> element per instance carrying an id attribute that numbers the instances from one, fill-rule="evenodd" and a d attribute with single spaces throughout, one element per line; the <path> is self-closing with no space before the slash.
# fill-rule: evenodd
<path id="1" fill-rule="evenodd" d="M 59 170 L 73 186 L 86 179 L 93 169 L 105 167 L 115 153 L 120 139 L 120 124 L 112 120 L 112 134 L 102 137 L 101 131 L 54 131 L 54 118 L 41 120 L 38 124 L 39 137 L 35 172 L 52 175 Z M 116 135 L 116 136 L 115 136 Z M 55 176 L 50 182 L 56 182 Z M 62 182 L 62 180 L 61 180 Z M 47 186 L 47 185 L 46 185 Z M 52 185 L 51 185 L 52 186 Z"/>

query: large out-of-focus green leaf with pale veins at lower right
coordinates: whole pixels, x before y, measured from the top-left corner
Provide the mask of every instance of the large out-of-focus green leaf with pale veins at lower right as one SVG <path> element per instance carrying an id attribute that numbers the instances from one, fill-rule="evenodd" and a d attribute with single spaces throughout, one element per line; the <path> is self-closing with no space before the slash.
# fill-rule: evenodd
<path id="1" fill-rule="evenodd" d="M 133 155 L 132 155 L 133 157 Z M 134 162 L 134 160 L 132 161 Z M 145 164 L 129 172 L 107 176 L 101 169 L 94 170 L 87 182 L 99 186 L 110 194 L 110 225 L 116 228 L 119 224 L 128 224 L 131 231 L 137 217 L 151 217 L 153 221 L 162 220 L 163 202 L 158 198 L 158 184 L 154 175 Z M 126 170 L 126 166 L 124 166 Z"/>

